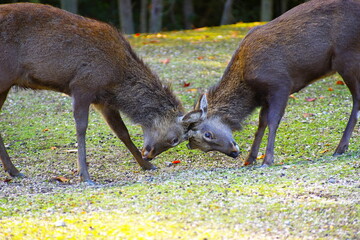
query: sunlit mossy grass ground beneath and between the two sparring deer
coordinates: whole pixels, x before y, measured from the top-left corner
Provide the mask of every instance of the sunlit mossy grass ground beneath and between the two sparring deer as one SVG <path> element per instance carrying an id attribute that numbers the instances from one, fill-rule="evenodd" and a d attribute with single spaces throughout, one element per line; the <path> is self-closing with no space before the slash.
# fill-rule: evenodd
<path id="1" fill-rule="evenodd" d="M 132 36 L 130 42 L 190 110 L 254 25 Z M 27 177 L 0 173 L 0 239 L 358 239 L 358 126 L 348 153 L 331 156 L 352 104 L 340 80 L 322 79 L 289 99 L 276 163 L 266 169 L 240 167 L 257 113 L 235 134 L 239 158 L 189 151 L 182 143 L 153 161 L 158 170 L 145 172 L 91 111 L 87 150 L 95 187 L 76 177 L 70 99 L 13 91 L 0 129 Z M 127 126 L 140 148 L 140 127 Z M 169 164 L 174 160 L 181 162 Z"/>

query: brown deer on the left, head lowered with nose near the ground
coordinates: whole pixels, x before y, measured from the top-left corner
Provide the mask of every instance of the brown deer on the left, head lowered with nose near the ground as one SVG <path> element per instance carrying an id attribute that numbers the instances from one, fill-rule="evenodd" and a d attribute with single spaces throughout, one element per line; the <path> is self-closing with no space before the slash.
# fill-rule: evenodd
<path id="1" fill-rule="evenodd" d="M 71 96 L 82 181 L 93 184 L 85 152 L 91 104 L 143 169 L 154 169 L 148 160 L 184 140 L 180 101 L 108 24 L 47 5 L 0 5 L 0 53 L 0 109 L 13 86 Z M 119 111 L 142 126 L 142 154 Z M 0 158 L 10 176 L 22 176 L 1 137 Z"/>

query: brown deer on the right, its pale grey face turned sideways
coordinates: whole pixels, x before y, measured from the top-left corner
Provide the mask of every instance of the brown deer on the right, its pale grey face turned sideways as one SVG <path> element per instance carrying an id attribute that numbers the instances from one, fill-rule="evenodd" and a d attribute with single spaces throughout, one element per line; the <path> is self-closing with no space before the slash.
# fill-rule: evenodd
<path id="1" fill-rule="evenodd" d="M 360 110 L 360 1 L 312 0 L 252 29 L 241 41 L 221 81 L 196 105 L 189 148 L 239 154 L 232 131 L 261 107 L 259 126 L 244 164 L 253 164 L 266 127 L 263 166 L 274 162 L 276 130 L 288 97 L 317 79 L 338 72 L 353 99 L 349 122 L 334 155 L 344 153 Z"/>

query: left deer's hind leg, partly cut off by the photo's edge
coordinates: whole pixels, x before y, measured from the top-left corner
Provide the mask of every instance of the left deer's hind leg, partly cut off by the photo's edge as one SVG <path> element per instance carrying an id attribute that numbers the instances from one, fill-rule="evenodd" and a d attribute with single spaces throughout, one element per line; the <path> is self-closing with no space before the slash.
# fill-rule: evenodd
<path id="1" fill-rule="evenodd" d="M 0 93 L 0 110 L 6 100 L 9 90 L 10 89 L 7 89 Z M 11 177 L 24 177 L 24 174 L 20 173 L 19 170 L 17 170 L 14 164 L 11 162 L 1 135 L 0 135 L 0 159 L 3 164 L 5 172 L 7 172 Z"/>

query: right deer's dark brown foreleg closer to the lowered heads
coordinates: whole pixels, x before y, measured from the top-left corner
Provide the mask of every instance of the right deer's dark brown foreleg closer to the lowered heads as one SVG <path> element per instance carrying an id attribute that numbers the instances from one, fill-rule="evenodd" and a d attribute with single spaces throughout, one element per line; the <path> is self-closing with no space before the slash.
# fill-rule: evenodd
<path id="1" fill-rule="evenodd" d="M 265 105 L 260 110 L 258 129 L 255 133 L 254 141 L 253 144 L 251 145 L 251 150 L 249 152 L 249 155 L 244 162 L 244 166 L 248 166 L 256 162 L 261 140 L 264 136 L 264 132 L 267 126 L 267 118 L 268 118 L 267 115 L 268 115 L 268 107 Z"/>

